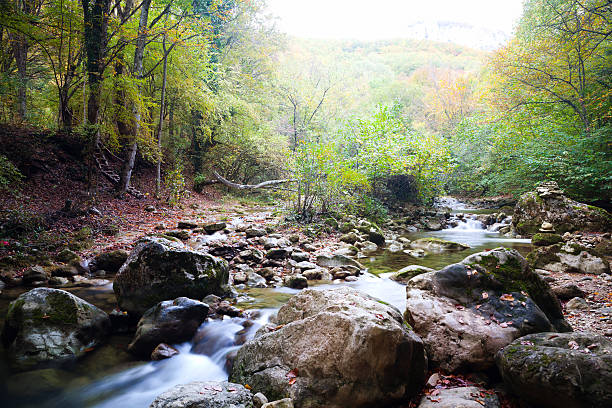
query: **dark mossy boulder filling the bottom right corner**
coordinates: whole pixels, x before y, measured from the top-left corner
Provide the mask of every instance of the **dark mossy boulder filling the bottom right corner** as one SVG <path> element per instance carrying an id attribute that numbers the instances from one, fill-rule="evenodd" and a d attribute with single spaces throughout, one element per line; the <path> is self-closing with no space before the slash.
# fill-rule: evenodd
<path id="1" fill-rule="evenodd" d="M 538 333 L 495 358 L 505 384 L 537 407 L 612 406 L 612 340 L 595 333 Z"/>

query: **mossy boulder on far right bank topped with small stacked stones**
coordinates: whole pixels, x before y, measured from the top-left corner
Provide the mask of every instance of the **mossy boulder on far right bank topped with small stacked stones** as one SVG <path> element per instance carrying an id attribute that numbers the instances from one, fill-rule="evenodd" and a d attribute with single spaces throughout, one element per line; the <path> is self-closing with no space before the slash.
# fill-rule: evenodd
<path id="1" fill-rule="evenodd" d="M 555 182 L 542 183 L 536 191 L 523 194 L 514 208 L 512 224 L 521 235 L 537 233 L 544 222 L 560 234 L 612 228 L 612 216 L 606 210 L 566 197 Z"/>

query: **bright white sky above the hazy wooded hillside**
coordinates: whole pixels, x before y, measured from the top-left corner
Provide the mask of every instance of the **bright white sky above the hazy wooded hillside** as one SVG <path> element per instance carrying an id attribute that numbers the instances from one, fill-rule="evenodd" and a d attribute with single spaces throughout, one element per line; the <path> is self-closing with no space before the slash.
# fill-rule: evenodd
<path id="1" fill-rule="evenodd" d="M 418 21 L 453 21 L 510 34 L 522 0 L 267 0 L 278 28 L 311 38 L 402 37 Z"/>

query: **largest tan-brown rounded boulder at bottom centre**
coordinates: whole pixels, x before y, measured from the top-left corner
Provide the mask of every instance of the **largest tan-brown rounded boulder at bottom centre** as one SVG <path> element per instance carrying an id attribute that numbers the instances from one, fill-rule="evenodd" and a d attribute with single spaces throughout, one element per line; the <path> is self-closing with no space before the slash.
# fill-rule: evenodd
<path id="1" fill-rule="evenodd" d="M 304 290 L 236 356 L 230 380 L 297 407 L 383 406 L 425 381 L 423 342 L 401 313 L 355 289 Z"/>

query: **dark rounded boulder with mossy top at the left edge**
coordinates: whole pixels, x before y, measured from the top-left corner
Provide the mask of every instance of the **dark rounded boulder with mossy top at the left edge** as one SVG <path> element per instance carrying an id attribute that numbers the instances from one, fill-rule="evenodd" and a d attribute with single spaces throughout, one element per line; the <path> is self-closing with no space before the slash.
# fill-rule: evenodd
<path id="1" fill-rule="evenodd" d="M 66 361 L 101 344 L 110 333 L 106 313 L 73 294 L 49 288 L 11 302 L 2 341 L 19 368 Z"/>

